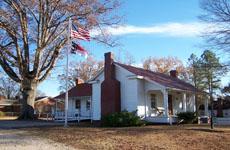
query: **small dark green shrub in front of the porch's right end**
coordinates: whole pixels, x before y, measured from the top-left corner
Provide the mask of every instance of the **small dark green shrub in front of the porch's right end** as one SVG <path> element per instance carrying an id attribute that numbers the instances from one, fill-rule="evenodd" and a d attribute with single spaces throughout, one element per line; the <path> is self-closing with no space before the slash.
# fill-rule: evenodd
<path id="1" fill-rule="evenodd" d="M 195 112 L 180 112 L 177 114 L 179 120 L 184 120 L 184 123 L 193 123 L 196 120 Z"/>

